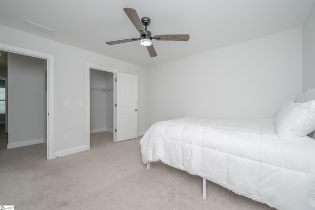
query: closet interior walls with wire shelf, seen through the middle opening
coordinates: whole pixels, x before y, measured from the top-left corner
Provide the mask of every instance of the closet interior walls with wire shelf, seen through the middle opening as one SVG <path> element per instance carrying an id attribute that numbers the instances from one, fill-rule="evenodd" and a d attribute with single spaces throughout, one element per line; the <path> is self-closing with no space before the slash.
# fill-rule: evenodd
<path id="1" fill-rule="evenodd" d="M 90 68 L 90 133 L 113 133 L 114 73 Z"/>

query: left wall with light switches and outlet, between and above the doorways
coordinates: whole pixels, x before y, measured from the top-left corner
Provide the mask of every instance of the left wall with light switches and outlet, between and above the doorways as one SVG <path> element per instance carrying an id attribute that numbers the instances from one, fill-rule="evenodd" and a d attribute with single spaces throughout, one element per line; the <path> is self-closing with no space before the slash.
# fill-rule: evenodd
<path id="1" fill-rule="evenodd" d="M 61 152 L 86 145 L 86 64 L 91 63 L 119 72 L 138 75 L 138 131 L 144 123 L 144 68 L 23 31 L 0 26 L 0 43 L 54 55 L 54 150 Z M 52 35 L 53 36 L 53 35 Z M 105 43 L 100 43 L 104 44 Z M 63 106 L 70 100 L 71 106 Z M 83 100 L 83 106 L 78 101 Z M 63 141 L 68 134 L 68 141 Z"/>

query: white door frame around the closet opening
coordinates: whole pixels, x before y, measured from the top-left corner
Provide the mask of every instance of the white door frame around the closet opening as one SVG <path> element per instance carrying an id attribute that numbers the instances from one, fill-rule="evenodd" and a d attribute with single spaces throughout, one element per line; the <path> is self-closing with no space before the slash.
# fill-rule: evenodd
<path id="1" fill-rule="evenodd" d="M 93 69 L 96 69 L 96 70 L 100 70 L 100 71 L 107 71 L 107 72 L 112 72 L 114 73 L 114 77 L 113 79 L 115 80 L 116 78 L 116 73 L 118 72 L 118 70 L 116 69 L 112 69 L 112 68 L 107 68 L 107 67 L 104 67 L 104 66 L 99 66 L 99 65 L 95 65 L 95 64 L 91 64 L 91 63 L 87 63 L 87 67 L 86 67 L 86 101 L 87 101 L 87 110 L 86 110 L 86 113 L 87 113 L 87 143 L 86 143 L 86 149 L 87 150 L 90 150 L 90 133 L 91 133 L 91 130 L 90 130 L 90 68 L 93 68 Z M 115 103 L 116 103 L 116 85 L 115 85 L 115 81 L 113 81 L 113 107 L 114 107 L 114 110 L 113 110 L 113 113 L 114 113 L 114 116 L 113 116 L 113 140 L 114 142 L 116 142 L 116 132 L 115 132 L 115 128 L 116 128 L 116 108 L 115 108 Z"/>

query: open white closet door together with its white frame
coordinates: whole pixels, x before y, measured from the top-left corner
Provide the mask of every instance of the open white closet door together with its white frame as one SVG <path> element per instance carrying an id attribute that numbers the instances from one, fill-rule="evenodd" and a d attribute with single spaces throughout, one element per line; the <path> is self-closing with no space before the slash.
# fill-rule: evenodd
<path id="1" fill-rule="evenodd" d="M 90 98 L 91 69 L 113 73 L 113 141 L 120 142 L 138 137 L 138 76 L 87 63 L 86 95 Z M 87 100 L 87 150 L 90 149 L 90 100 Z"/>

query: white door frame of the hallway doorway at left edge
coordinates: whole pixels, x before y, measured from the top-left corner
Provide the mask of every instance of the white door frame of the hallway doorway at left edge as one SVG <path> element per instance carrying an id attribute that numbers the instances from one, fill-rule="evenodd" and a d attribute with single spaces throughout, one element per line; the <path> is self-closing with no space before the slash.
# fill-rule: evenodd
<path id="1" fill-rule="evenodd" d="M 56 158 L 54 148 L 54 56 L 0 43 L 0 50 L 47 60 L 47 159 Z"/>

